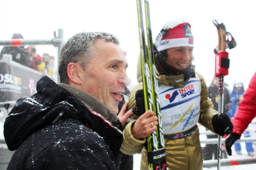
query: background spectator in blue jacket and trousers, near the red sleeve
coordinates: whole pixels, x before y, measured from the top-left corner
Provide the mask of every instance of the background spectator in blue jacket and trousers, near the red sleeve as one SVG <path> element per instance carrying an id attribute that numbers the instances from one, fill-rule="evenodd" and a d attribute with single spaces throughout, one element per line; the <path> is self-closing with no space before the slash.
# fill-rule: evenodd
<path id="1" fill-rule="evenodd" d="M 228 112 L 228 115 L 231 118 L 234 117 L 239 103 L 240 101 L 243 99 L 243 95 L 244 95 L 244 85 L 242 82 L 236 82 L 234 83 L 234 87 L 233 87 L 233 91 L 230 94 L 231 97 L 231 101 L 232 101 L 232 108 L 230 109 L 230 111 Z M 244 137 L 250 137 L 250 132 L 245 130 L 244 131 Z M 246 151 L 248 153 L 249 156 L 254 156 L 254 150 L 252 148 L 252 142 L 245 142 L 246 145 Z M 237 154 L 241 155 L 241 145 L 240 143 L 235 143 L 235 151 Z"/>

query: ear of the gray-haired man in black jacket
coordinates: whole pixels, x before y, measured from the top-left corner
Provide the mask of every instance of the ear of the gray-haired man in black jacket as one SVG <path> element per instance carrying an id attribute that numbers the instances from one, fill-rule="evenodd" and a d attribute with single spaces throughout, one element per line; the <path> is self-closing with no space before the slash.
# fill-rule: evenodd
<path id="1" fill-rule="evenodd" d="M 75 84 L 81 84 L 80 71 L 79 64 L 70 62 L 67 66 L 68 79 Z"/>

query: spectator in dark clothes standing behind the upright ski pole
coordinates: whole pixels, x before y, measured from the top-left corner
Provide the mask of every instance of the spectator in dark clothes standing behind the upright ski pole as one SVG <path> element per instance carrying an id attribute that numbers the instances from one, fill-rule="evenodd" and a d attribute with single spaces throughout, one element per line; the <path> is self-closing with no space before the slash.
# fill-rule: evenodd
<path id="1" fill-rule="evenodd" d="M 215 110 L 218 110 L 219 105 L 219 78 L 215 77 L 212 80 L 212 83 L 208 87 L 208 94 L 209 98 L 212 100 L 213 106 Z M 230 101 L 229 91 L 226 87 L 224 87 L 224 114 L 227 114 L 229 109 L 232 107 L 232 102 Z M 207 138 L 217 138 L 217 134 L 207 135 Z M 214 159 L 217 159 L 218 156 L 218 144 L 206 144 L 203 153 L 204 153 L 204 160 L 211 160 L 214 154 Z"/>

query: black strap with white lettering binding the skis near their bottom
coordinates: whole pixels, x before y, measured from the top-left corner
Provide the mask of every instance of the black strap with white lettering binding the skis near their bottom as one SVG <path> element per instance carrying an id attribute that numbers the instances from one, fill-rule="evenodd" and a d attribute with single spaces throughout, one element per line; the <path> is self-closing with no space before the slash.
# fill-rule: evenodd
<path id="1" fill-rule="evenodd" d="M 148 163 L 156 164 L 158 162 L 165 161 L 165 149 L 154 150 L 148 152 Z"/>

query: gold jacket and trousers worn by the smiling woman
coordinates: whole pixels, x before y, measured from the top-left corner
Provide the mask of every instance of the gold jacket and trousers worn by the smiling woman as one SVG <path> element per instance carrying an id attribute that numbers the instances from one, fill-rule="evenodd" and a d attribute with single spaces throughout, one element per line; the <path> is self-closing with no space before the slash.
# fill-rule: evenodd
<path id="1" fill-rule="evenodd" d="M 138 62 L 138 69 L 141 70 L 140 62 Z M 201 81 L 201 95 L 200 95 L 200 117 L 198 123 L 214 132 L 212 127 L 212 117 L 218 112 L 214 110 L 213 104 L 210 98 L 208 98 L 208 90 L 205 81 L 201 74 L 199 75 Z M 185 81 L 183 75 L 166 76 L 158 75 L 158 83 L 165 84 L 173 87 L 184 87 Z M 176 83 L 174 80 L 183 79 L 183 81 Z M 137 75 L 138 82 L 142 82 L 141 72 Z M 189 79 L 189 78 L 188 78 Z M 188 80 L 187 79 L 187 80 Z M 143 85 L 138 84 L 131 91 L 129 98 L 129 109 L 136 107 L 135 94 L 136 91 L 142 89 Z M 123 130 L 123 144 L 121 146 L 121 152 L 127 155 L 133 155 L 142 152 L 141 169 L 147 170 L 147 150 L 143 146 L 146 142 L 145 139 L 137 140 L 131 133 L 132 125 L 135 123 L 138 117 L 133 114 L 131 119 L 134 121 L 128 123 Z M 169 169 L 174 170 L 202 170 L 203 169 L 203 157 L 202 149 L 199 141 L 198 128 L 189 136 L 178 139 L 165 139 L 165 152 L 166 161 Z"/>

